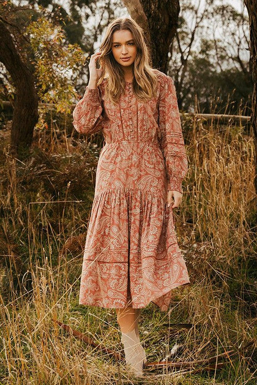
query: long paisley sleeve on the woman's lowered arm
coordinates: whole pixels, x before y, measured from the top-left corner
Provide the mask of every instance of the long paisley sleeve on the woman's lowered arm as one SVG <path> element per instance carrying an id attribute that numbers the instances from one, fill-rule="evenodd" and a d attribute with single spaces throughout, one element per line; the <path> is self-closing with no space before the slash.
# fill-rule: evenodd
<path id="1" fill-rule="evenodd" d="M 168 174 L 168 190 L 182 192 L 182 180 L 188 171 L 188 160 L 182 136 L 176 90 L 167 76 L 161 82 L 159 97 L 160 145 Z"/>

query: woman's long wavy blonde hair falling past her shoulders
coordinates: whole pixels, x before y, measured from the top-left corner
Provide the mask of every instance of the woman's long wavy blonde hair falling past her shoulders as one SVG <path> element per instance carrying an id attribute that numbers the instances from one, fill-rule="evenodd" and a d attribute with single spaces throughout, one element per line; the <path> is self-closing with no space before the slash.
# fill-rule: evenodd
<path id="1" fill-rule="evenodd" d="M 143 30 L 132 18 L 117 17 L 108 25 L 100 45 L 102 53 L 99 56 L 99 63 L 102 66 L 103 72 L 97 85 L 101 84 L 107 75 L 105 95 L 114 104 L 118 103 L 125 87 L 125 80 L 123 69 L 114 59 L 112 46 L 113 34 L 115 31 L 120 30 L 130 30 L 137 47 L 137 55 L 133 66 L 133 89 L 135 95 L 138 99 L 149 100 L 156 96 L 157 76 L 155 70 L 150 65 L 150 55 L 144 41 Z"/>

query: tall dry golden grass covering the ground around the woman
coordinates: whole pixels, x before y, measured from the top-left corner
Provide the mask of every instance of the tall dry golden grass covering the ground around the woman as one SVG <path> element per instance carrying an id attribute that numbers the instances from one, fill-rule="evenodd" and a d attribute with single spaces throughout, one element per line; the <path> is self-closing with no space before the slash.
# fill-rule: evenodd
<path id="1" fill-rule="evenodd" d="M 184 364 L 149 369 L 139 380 L 124 361 L 56 322 L 122 353 L 115 311 L 78 304 L 102 138 L 91 143 L 49 126 L 35 133 L 30 154 L 15 161 L 2 131 L 0 384 L 257 383 L 251 133 L 232 122 L 206 126 L 194 119 L 183 121 L 183 132 L 189 172 L 174 212 L 191 285 L 174 290 L 169 312 L 152 303 L 143 309 L 140 336 L 149 362 L 169 357 Z M 234 354 L 216 369 L 200 361 L 226 351 Z"/>

